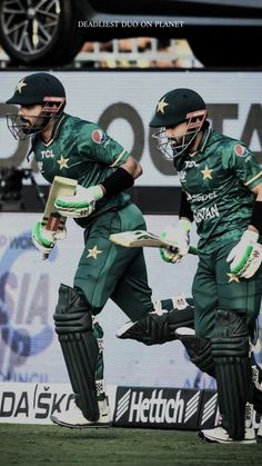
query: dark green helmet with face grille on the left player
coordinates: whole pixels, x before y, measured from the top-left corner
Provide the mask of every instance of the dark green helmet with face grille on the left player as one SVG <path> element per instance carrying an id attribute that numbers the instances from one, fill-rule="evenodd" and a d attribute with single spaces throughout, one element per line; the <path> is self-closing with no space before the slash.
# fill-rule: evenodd
<path id="1" fill-rule="evenodd" d="M 46 129 L 51 119 L 59 117 L 66 106 L 66 90 L 53 75 L 37 72 L 26 76 L 16 86 L 13 96 L 6 103 L 20 107 L 42 106 L 42 111 L 30 126 L 17 113 L 8 113 L 8 128 L 16 139 L 24 140 Z M 34 117 L 32 115 L 32 117 Z"/>

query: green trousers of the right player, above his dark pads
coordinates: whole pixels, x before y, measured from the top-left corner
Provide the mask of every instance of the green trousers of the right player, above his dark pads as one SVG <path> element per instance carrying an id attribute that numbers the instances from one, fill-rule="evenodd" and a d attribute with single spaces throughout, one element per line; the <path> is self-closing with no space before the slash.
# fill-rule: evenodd
<path id="1" fill-rule="evenodd" d="M 262 296 L 262 267 L 250 279 L 238 279 L 230 272 L 226 257 L 235 241 L 226 242 L 211 254 L 200 254 L 192 294 L 195 333 L 211 338 L 216 309 L 233 310 L 245 316 L 253 337 Z"/>

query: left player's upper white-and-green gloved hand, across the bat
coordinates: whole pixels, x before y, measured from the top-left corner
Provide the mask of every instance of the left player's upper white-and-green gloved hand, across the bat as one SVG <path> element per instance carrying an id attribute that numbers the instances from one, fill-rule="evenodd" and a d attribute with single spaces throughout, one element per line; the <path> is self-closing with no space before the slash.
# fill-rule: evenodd
<path id="1" fill-rule="evenodd" d="M 54 206 L 66 217 L 88 217 L 95 209 L 97 200 L 103 197 L 103 189 L 100 185 L 84 188 L 78 185 L 74 196 L 59 196 Z"/>

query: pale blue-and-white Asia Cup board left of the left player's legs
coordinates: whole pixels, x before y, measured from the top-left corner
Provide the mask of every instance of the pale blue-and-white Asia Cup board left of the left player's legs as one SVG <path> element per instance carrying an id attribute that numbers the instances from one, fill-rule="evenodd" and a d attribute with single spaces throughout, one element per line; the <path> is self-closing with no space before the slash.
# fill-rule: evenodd
<path id="1" fill-rule="evenodd" d="M 66 368 L 53 329 L 60 249 L 49 260 L 31 239 L 34 214 L 2 214 L 0 234 L 0 380 L 47 383 Z M 23 226 L 26 228 L 23 228 Z M 67 254 L 66 254 L 67 256 Z M 71 279 L 71 268 L 63 267 Z M 59 380 L 54 380 L 59 381 Z"/>

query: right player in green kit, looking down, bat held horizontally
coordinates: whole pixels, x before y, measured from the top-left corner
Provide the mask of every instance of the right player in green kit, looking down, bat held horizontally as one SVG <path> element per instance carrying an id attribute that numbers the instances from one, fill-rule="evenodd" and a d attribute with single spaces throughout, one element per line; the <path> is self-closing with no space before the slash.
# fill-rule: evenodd
<path id="1" fill-rule="evenodd" d="M 162 248 L 163 260 L 179 262 L 188 254 L 192 221 L 199 235 L 194 276 L 195 335 L 178 330 L 191 360 L 216 379 L 221 425 L 200 436 L 223 444 L 255 443 L 246 427 L 251 403 L 262 414 L 262 391 L 253 376 L 250 343 L 262 296 L 262 169 L 249 148 L 216 132 L 206 119 L 202 97 L 192 89 L 162 96 L 150 122 L 161 153 L 179 173 L 182 197 L 179 222 L 162 232 L 175 250 Z M 120 338 L 150 339 L 151 316 L 119 331 Z M 154 328 L 158 327 L 154 319 Z M 159 328 L 163 326 L 161 320 Z M 256 381 L 255 381 L 256 380 Z"/>

